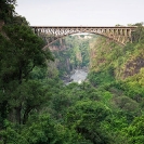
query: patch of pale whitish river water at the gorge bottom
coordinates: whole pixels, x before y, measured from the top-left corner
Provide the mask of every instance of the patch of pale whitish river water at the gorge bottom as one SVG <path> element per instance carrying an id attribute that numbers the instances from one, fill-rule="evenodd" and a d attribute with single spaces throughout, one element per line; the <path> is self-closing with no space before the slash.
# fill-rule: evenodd
<path id="1" fill-rule="evenodd" d="M 87 76 L 88 76 L 88 73 L 84 71 L 83 69 L 76 69 L 75 74 L 70 76 L 70 79 L 73 80 L 71 82 L 81 83 L 82 81 L 86 80 Z"/>

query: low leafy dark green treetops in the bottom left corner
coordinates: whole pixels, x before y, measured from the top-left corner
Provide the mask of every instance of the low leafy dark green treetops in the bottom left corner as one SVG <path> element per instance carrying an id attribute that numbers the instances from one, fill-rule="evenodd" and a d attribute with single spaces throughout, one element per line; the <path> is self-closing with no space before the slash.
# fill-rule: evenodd
<path id="1" fill-rule="evenodd" d="M 26 127 L 19 130 L 21 132 L 16 131 L 11 122 L 5 121 L 5 129 L 0 131 L 0 143 L 66 144 L 69 135 L 62 125 L 55 123 L 49 115 L 34 116 L 32 118 Z"/>

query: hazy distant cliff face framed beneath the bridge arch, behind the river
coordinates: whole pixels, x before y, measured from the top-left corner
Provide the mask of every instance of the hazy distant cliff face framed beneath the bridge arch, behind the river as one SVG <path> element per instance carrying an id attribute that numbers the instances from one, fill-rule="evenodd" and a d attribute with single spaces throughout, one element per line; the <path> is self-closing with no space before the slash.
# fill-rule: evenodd
<path id="1" fill-rule="evenodd" d="M 68 75 L 76 68 L 89 65 L 89 41 L 88 36 L 69 36 L 56 41 L 49 49 L 53 52 L 60 76 Z"/>

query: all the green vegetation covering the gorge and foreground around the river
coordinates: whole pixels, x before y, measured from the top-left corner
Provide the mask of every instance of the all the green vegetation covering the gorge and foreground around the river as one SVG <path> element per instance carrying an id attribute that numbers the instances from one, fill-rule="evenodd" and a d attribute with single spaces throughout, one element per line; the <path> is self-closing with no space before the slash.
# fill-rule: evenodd
<path id="1" fill-rule="evenodd" d="M 0 1 L 0 143 L 144 143 L 142 24 L 123 48 L 101 37 L 69 36 L 53 64 L 42 39 L 15 15 L 15 2 Z M 65 86 L 58 78 L 89 62 L 89 81 Z"/>

